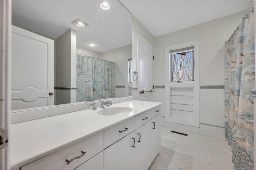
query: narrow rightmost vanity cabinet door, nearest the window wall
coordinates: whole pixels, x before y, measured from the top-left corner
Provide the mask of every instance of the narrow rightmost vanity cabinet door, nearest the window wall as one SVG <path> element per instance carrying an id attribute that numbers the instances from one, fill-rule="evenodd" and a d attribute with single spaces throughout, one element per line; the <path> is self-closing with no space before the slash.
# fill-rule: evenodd
<path id="1" fill-rule="evenodd" d="M 161 114 L 151 119 L 151 162 L 161 147 Z"/>

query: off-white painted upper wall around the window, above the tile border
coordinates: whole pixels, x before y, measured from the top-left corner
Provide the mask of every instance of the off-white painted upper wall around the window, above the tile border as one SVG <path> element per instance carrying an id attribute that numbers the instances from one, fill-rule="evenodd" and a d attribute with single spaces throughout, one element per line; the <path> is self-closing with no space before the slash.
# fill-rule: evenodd
<path id="1" fill-rule="evenodd" d="M 155 38 L 155 85 L 164 85 L 165 47 L 200 40 L 200 85 L 224 85 L 224 42 L 247 11 Z M 196 66 L 196 63 L 195 63 Z M 162 75 L 162 76 L 159 76 Z"/>

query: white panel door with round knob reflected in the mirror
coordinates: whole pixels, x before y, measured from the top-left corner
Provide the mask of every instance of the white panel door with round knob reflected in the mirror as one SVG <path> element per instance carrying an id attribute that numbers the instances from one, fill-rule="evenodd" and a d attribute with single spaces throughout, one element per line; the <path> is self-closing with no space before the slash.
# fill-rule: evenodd
<path id="1" fill-rule="evenodd" d="M 54 105 L 54 41 L 12 25 L 12 110 Z"/>

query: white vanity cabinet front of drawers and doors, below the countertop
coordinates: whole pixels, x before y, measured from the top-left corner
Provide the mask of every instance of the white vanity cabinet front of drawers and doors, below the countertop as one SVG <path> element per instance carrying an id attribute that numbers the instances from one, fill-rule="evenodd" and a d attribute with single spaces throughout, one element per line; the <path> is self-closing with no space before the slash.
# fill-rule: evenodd
<path id="1" fill-rule="evenodd" d="M 160 128 L 154 107 L 20 169 L 147 170 L 160 150 Z"/>

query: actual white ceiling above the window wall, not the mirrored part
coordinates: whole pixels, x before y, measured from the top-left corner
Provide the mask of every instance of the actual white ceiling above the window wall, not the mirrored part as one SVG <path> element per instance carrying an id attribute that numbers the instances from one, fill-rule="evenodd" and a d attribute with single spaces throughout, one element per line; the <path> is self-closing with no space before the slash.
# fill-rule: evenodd
<path id="1" fill-rule="evenodd" d="M 250 9 L 251 0 L 120 0 L 154 36 Z"/>

